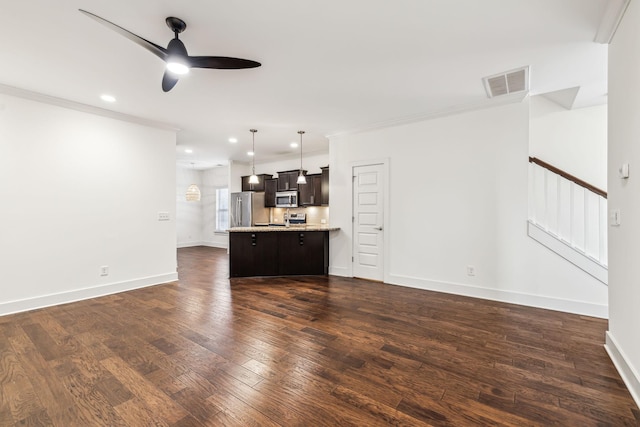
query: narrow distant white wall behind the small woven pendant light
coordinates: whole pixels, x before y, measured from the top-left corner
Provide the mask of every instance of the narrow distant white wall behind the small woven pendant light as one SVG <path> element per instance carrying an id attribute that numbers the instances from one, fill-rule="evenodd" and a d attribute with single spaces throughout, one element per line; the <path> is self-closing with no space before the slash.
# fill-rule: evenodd
<path id="1" fill-rule="evenodd" d="M 186 192 L 191 184 L 200 189 L 199 202 L 187 202 Z M 202 172 L 193 168 L 176 168 L 176 233 L 178 247 L 199 246 L 202 244 L 202 213 L 204 204 Z"/>

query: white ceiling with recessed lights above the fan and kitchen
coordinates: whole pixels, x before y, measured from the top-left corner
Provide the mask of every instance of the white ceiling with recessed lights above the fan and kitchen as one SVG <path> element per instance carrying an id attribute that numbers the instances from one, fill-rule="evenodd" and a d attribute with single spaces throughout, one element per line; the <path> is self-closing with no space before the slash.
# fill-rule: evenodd
<path id="1" fill-rule="evenodd" d="M 256 128 L 259 163 L 298 154 L 298 130 L 305 153 L 326 151 L 327 135 L 497 102 L 482 78 L 525 65 L 531 94 L 606 102 L 593 40 L 610 1 L 0 0 L 0 84 L 174 125 L 178 161 L 199 167 L 248 161 Z M 164 93 L 162 61 L 80 8 L 162 46 L 176 16 L 189 54 L 263 65 L 195 69 Z"/>

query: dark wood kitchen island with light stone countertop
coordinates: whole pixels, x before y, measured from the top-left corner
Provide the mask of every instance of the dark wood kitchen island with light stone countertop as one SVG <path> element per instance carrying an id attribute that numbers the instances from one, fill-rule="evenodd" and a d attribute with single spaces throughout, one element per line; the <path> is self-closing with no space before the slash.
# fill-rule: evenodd
<path id="1" fill-rule="evenodd" d="M 337 227 L 292 225 L 229 230 L 231 277 L 325 275 L 329 232 Z"/>

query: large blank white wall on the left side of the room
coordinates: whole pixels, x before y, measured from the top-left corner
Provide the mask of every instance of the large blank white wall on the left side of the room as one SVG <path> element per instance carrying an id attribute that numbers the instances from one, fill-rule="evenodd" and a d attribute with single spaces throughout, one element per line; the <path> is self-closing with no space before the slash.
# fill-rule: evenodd
<path id="1" fill-rule="evenodd" d="M 175 132 L 0 95 L 0 314 L 175 280 L 174 188 Z"/>

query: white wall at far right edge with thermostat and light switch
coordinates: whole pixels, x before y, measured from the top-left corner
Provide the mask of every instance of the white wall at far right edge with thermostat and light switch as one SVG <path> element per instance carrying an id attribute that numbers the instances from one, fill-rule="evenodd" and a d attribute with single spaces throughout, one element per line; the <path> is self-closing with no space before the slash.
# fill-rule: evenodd
<path id="1" fill-rule="evenodd" d="M 640 5 L 630 2 L 609 46 L 609 209 L 621 224 L 609 227 L 607 350 L 640 405 Z M 618 167 L 629 163 L 629 179 Z"/>

